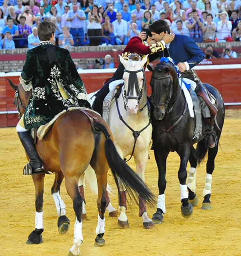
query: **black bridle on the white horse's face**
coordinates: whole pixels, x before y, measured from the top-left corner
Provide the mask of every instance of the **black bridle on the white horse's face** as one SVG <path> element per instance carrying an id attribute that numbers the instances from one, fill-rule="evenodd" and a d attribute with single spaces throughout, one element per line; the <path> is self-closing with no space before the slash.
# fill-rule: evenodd
<path id="1" fill-rule="evenodd" d="M 127 72 L 127 73 L 129 73 L 129 74 L 134 74 L 134 73 L 136 74 L 136 73 L 138 73 L 138 72 L 143 72 L 143 83 L 142 83 L 141 90 L 139 89 L 138 84 L 135 84 L 136 93 L 137 93 L 137 94 L 139 93 L 138 96 L 128 96 L 129 93 L 131 92 L 131 90 L 130 90 L 130 88 L 129 88 L 129 83 L 128 83 L 128 92 L 126 92 L 125 85 L 123 86 L 124 95 L 123 95 L 123 93 L 121 93 L 121 95 L 122 95 L 122 98 L 123 98 L 123 100 L 124 100 L 124 108 L 125 108 L 125 110 L 127 110 L 127 108 L 126 108 L 126 107 L 127 107 L 127 101 L 130 100 L 130 99 L 137 100 L 137 103 L 138 103 L 138 106 L 139 106 L 139 102 L 140 102 L 140 100 L 141 100 L 141 98 L 142 98 L 143 86 L 144 86 L 144 84 L 145 84 L 145 72 L 144 72 L 144 69 L 143 69 L 143 68 L 138 69 L 138 70 L 135 70 L 135 71 L 131 71 L 131 70 L 128 70 L 128 69 L 124 69 L 124 72 Z M 146 105 L 147 105 L 147 104 L 145 104 L 144 107 L 145 107 Z M 144 107 L 143 107 L 143 108 L 144 108 Z M 139 111 L 142 111 L 143 108 L 139 109 Z"/>

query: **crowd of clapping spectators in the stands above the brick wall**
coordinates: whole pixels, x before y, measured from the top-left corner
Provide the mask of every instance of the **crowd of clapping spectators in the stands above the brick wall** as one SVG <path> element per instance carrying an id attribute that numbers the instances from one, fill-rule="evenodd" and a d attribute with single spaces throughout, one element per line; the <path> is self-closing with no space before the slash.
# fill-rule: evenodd
<path id="1" fill-rule="evenodd" d="M 35 47 L 43 20 L 56 25 L 60 47 L 127 44 L 159 19 L 195 42 L 240 41 L 240 7 L 241 0 L 0 0 L 0 47 Z"/>

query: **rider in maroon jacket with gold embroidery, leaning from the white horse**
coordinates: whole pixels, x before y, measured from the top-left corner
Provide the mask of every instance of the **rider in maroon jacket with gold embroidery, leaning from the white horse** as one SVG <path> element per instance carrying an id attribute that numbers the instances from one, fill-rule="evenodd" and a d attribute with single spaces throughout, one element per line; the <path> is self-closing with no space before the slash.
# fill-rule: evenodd
<path id="1" fill-rule="evenodd" d="M 143 33 L 144 32 L 144 33 Z M 144 35 L 144 36 L 143 36 Z M 144 40 L 142 39 L 144 38 Z M 165 35 L 160 41 L 153 42 L 152 34 L 149 29 L 143 29 L 139 36 L 133 36 L 129 40 L 128 44 L 126 45 L 124 51 L 122 52 L 121 56 L 128 60 L 128 56 L 131 54 L 138 54 L 141 57 L 141 60 L 145 57 L 145 55 L 149 55 L 149 60 L 153 61 L 154 59 L 151 58 L 153 53 L 163 51 L 165 45 L 170 43 L 174 39 L 174 35 Z M 145 66 L 148 63 L 145 64 Z M 105 96 L 109 93 L 109 84 L 115 80 L 122 79 L 124 74 L 124 66 L 122 63 L 118 65 L 114 75 L 112 78 L 103 85 L 103 87 L 97 92 L 95 101 L 92 105 L 92 108 L 99 112 L 102 115 L 102 105 L 105 99 Z"/>

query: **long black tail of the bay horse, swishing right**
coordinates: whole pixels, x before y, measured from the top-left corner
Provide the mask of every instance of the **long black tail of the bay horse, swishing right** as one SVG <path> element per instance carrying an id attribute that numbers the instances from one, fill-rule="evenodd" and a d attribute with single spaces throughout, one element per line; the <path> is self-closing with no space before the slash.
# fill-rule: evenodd
<path id="1" fill-rule="evenodd" d="M 131 200 L 134 200 L 137 204 L 137 196 L 135 192 L 146 200 L 147 203 L 153 206 L 155 201 L 155 196 L 152 194 L 150 189 L 144 183 L 144 181 L 126 164 L 126 162 L 118 154 L 113 141 L 109 138 L 110 135 L 103 124 L 96 123 L 95 127 L 100 129 L 106 137 L 105 140 L 105 157 L 111 168 L 116 186 L 118 188 L 118 194 L 120 199 L 120 187 L 118 179 L 124 184 L 128 195 Z M 133 191 L 134 192 L 133 192 Z"/>

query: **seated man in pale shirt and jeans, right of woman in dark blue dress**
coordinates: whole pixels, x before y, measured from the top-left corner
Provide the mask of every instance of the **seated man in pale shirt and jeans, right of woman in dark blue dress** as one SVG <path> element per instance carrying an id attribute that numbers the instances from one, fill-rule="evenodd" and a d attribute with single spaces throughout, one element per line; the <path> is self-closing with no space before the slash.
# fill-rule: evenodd
<path id="1" fill-rule="evenodd" d="M 127 22 L 122 20 L 122 16 L 120 12 L 116 13 L 116 20 L 113 21 L 113 32 L 115 35 L 115 43 L 117 45 L 127 44 Z"/>

